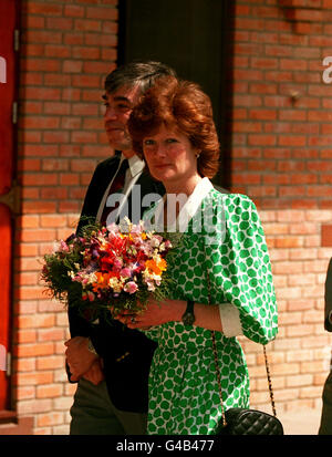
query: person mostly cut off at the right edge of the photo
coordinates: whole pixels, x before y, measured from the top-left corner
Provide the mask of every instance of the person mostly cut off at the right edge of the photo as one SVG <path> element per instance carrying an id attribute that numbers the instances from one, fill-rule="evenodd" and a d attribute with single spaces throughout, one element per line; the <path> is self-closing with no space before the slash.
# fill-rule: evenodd
<path id="1" fill-rule="evenodd" d="M 325 281 L 325 313 L 324 328 L 332 332 L 332 259 L 330 260 Z M 323 390 L 323 409 L 319 435 L 332 435 L 332 360 L 330 374 Z"/>

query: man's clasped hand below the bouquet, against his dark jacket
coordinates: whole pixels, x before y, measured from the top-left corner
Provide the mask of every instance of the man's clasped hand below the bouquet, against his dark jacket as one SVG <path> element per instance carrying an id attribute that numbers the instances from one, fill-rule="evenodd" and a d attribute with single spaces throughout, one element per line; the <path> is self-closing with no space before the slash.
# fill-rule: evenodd
<path id="1" fill-rule="evenodd" d="M 66 362 L 72 374 L 71 381 L 79 381 L 98 360 L 98 355 L 89 351 L 87 342 L 87 337 L 74 336 L 64 343 Z"/>

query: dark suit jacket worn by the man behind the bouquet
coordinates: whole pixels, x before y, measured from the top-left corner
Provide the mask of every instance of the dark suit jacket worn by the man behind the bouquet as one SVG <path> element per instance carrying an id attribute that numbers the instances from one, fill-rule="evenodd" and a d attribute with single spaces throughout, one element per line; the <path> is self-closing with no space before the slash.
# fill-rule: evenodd
<path id="1" fill-rule="evenodd" d="M 118 162 L 120 155 L 117 154 L 97 165 L 87 188 L 77 232 L 86 224 L 86 219 L 82 220 L 82 217 L 95 218 Z M 159 195 L 165 193 L 164 186 L 153 180 L 146 172 L 143 172 L 136 185 L 141 185 L 142 198 L 149 193 Z M 132 219 L 132 195 L 128 196 L 128 217 Z M 145 209 L 142 209 L 142 215 Z M 148 372 L 156 343 L 148 340 L 142 332 L 129 330 L 118 321 L 110 323 L 100 319 L 98 324 L 91 324 L 77 315 L 75 309 L 71 307 L 69 307 L 69 321 L 72 337 L 90 336 L 97 353 L 103 357 L 104 374 L 112 403 L 122 411 L 145 413 L 148 398 Z M 122 361 L 116 361 L 127 352 L 129 355 Z"/>

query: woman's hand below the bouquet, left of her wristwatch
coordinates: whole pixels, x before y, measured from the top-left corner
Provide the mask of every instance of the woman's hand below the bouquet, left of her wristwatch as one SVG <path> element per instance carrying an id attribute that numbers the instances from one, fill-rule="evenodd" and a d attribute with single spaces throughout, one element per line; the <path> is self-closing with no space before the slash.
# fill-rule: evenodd
<path id="1" fill-rule="evenodd" d="M 151 298 L 147 307 L 139 313 L 133 314 L 124 311 L 115 319 L 125 324 L 128 329 L 146 330 L 154 325 L 162 325 L 166 322 L 180 321 L 186 309 L 186 302 L 181 300 L 157 300 Z"/>

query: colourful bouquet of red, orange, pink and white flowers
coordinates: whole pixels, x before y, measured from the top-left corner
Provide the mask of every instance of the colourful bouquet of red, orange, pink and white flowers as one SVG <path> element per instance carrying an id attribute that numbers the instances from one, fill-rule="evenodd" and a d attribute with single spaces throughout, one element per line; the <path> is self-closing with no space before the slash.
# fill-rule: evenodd
<path id="1" fill-rule="evenodd" d="M 133 225 L 87 225 L 82 236 L 61 240 L 44 256 L 41 279 L 52 298 L 79 307 L 90 320 L 101 313 L 113 316 L 144 310 L 149 293 L 156 300 L 169 295 L 168 259 L 174 241 Z M 166 260 L 167 257 L 167 260 Z"/>

